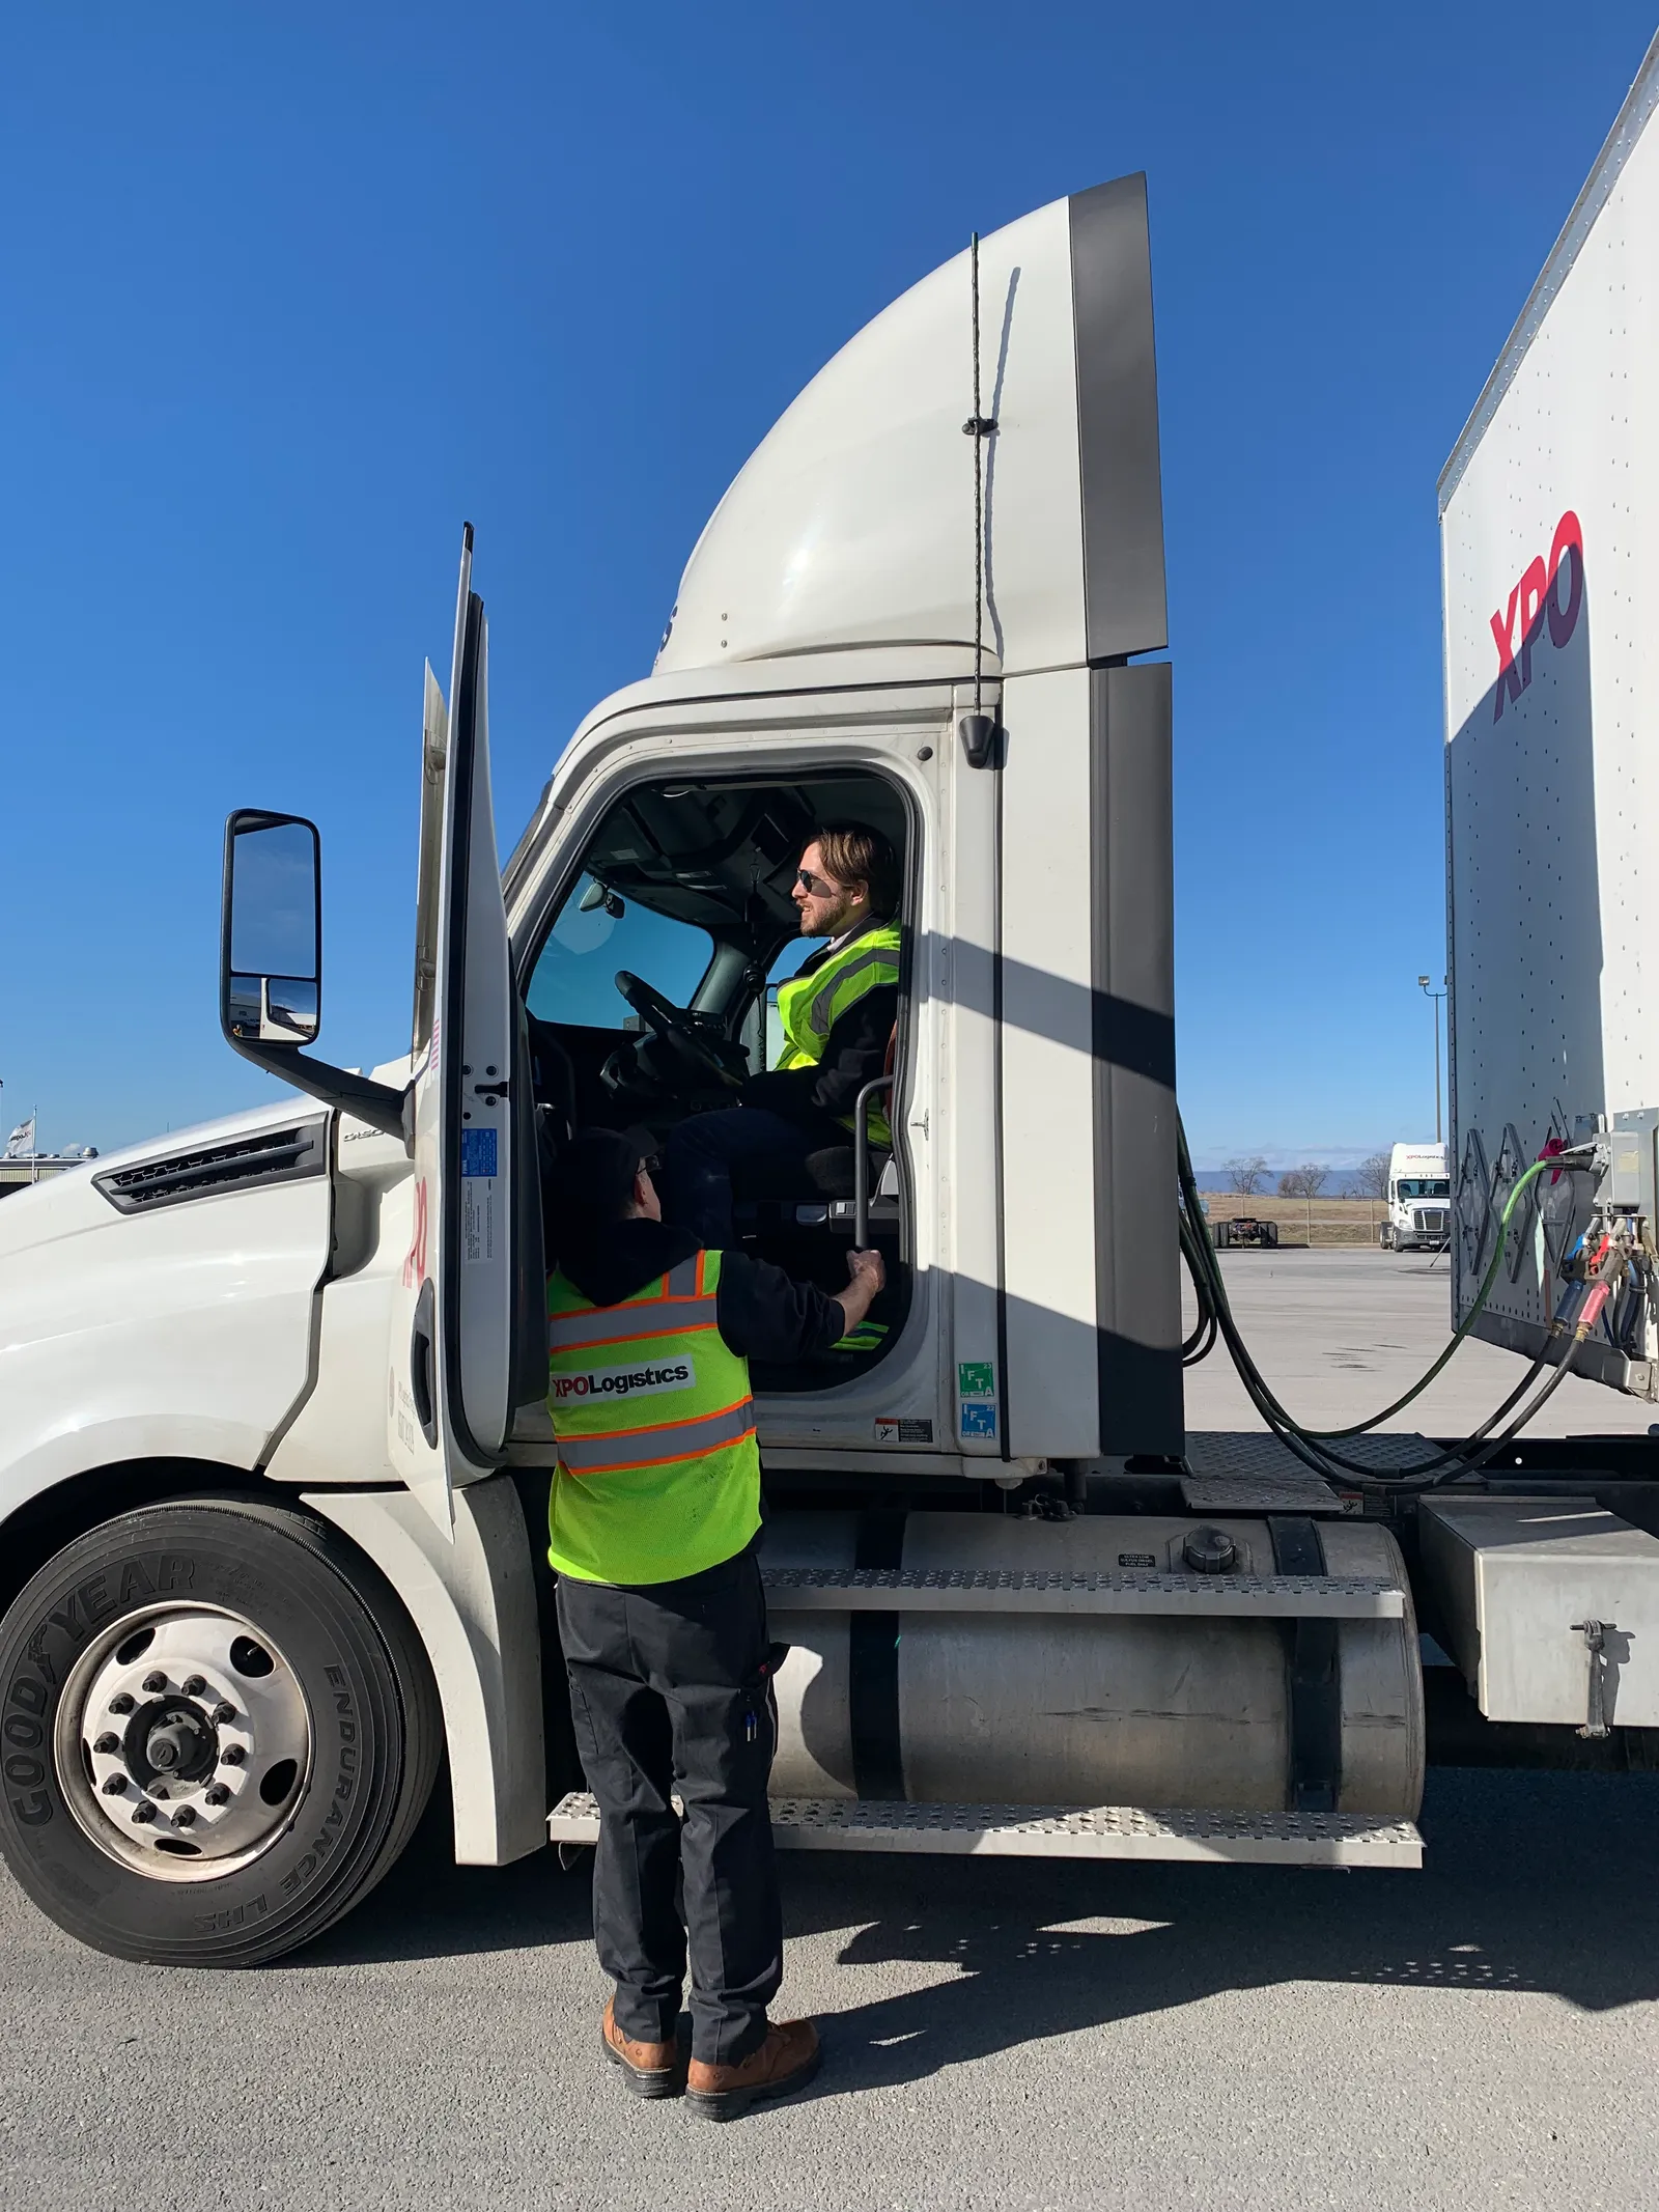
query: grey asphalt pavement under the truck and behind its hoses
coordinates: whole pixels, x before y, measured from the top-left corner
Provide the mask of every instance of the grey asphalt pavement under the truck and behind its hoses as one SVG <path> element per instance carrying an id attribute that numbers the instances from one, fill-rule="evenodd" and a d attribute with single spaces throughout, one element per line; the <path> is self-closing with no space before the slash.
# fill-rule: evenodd
<path id="1" fill-rule="evenodd" d="M 1369 1411 L 1444 1340 L 1427 1261 L 1225 1267 L 1307 1418 Z M 1460 1360 L 1431 1433 L 1515 1378 Z M 1646 1429 L 1577 1389 L 1564 1427 Z M 1219 1356 L 1190 1425 L 1245 1425 Z M 82 1951 L 0 1874 L 0 2203 L 1652 2203 L 1659 1776 L 1436 1772 L 1422 1829 L 1420 1874 L 785 1856 L 781 2011 L 821 2020 L 827 2059 L 726 2128 L 602 2062 L 586 1856 L 462 1869 L 429 1818 L 356 1913 L 254 1973 Z"/>

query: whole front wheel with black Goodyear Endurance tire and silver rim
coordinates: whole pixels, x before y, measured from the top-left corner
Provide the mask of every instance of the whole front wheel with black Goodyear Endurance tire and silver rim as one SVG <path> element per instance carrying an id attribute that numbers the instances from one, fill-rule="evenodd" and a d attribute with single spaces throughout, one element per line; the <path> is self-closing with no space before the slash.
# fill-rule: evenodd
<path id="1" fill-rule="evenodd" d="M 392 1590 L 303 1511 L 146 1506 L 0 1621 L 0 1851 L 115 1958 L 257 1966 L 403 1851 L 442 1745 Z"/>

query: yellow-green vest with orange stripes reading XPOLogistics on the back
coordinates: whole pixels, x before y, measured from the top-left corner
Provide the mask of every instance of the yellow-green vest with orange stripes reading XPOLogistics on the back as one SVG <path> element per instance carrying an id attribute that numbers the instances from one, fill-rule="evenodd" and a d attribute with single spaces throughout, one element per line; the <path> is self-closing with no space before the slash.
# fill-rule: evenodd
<path id="1" fill-rule="evenodd" d="M 560 1444 L 549 1559 L 580 1582 L 677 1582 L 761 1526 L 750 1363 L 717 1318 L 719 1252 L 619 1305 L 546 1285 L 546 1407 Z"/>

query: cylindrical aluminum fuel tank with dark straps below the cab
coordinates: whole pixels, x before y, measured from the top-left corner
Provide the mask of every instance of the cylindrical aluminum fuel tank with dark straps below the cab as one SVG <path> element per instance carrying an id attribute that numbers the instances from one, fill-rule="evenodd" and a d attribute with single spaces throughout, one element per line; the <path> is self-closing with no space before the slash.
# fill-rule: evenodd
<path id="1" fill-rule="evenodd" d="M 860 1528 L 865 1542 L 860 1546 Z M 765 1568 L 1181 1575 L 1197 1528 L 1234 1544 L 1234 1575 L 1272 1575 L 1265 1520 L 993 1513 L 869 1517 L 776 1513 Z M 1422 1796 L 1418 1628 L 1394 1537 L 1365 1522 L 1318 1524 L 1334 1577 L 1400 1590 L 1391 1619 L 1340 1619 L 1340 1794 L 1345 1814 L 1411 1818 Z M 821 1593 L 827 1597 L 830 1593 Z M 1272 1812 L 1290 1803 L 1294 1624 L 1177 1613 L 920 1610 L 801 1606 L 772 1593 L 779 1672 L 772 1796 L 905 1796 L 911 1803 L 1150 1805 Z M 1181 1599 L 1177 1599 L 1181 1601 Z M 854 1621 L 858 1626 L 854 1628 Z M 874 1785 L 872 1785 L 874 1783 Z"/>

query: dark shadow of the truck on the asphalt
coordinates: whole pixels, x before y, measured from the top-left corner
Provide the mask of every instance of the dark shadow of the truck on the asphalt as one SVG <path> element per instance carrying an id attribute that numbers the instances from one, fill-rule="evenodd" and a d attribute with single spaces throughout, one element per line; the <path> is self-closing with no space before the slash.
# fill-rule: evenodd
<path id="1" fill-rule="evenodd" d="M 832 2064 L 810 2095 L 1287 1982 L 1540 1991 L 1586 2011 L 1659 1997 L 1659 1776 L 1442 1770 L 1422 1829 L 1422 1874 L 790 1854 L 790 1940 L 854 1929 L 836 1964 L 865 1989 L 867 1969 L 945 1971 L 825 2004 Z M 588 1944 L 586 1858 L 467 1869 L 442 1843 L 431 1823 L 294 1966 Z"/>

